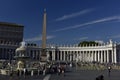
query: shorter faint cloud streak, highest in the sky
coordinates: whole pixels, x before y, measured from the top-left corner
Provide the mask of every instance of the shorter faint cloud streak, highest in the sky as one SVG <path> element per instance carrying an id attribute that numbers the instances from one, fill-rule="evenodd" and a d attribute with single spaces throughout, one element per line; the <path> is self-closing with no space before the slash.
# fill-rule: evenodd
<path id="1" fill-rule="evenodd" d="M 80 15 L 89 13 L 91 11 L 93 11 L 93 9 L 85 9 L 85 10 L 82 10 L 82 11 L 79 11 L 79 12 L 76 12 L 76 13 L 64 15 L 62 17 L 57 18 L 55 21 L 63 21 L 63 20 L 66 20 L 66 19 L 74 18 L 74 17 L 80 16 Z"/>

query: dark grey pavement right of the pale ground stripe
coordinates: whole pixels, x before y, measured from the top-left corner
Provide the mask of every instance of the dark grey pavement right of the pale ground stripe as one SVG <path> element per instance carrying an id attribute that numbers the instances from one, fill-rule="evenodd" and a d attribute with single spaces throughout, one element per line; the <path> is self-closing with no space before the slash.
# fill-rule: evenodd
<path id="1" fill-rule="evenodd" d="M 100 75 L 104 76 L 104 80 L 120 80 L 120 70 L 111 70 L 111 74 L 109 76 L 108 70 L 76 71 L 75 69 L 71 72 L 66 72 L 65 76 L 63 74 L 52 74 L 50 80 L 95 80 L 96 77 Z"/>

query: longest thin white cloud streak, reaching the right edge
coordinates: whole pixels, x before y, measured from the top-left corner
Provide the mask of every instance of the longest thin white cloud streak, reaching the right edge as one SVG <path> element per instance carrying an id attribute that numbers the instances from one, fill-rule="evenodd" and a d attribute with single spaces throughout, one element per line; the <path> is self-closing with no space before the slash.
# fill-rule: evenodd
<path id="1" fill-rule="evenodd" d="M 88 25 L 103 23 L 103 22 L 109 22 L 109 21 L 114 21 L 114 20 L 116 20 L 116 21 L 120 20 L 120 16 L 106 17 L 106 18 L 98 19 L 98 20 L 83 23 L 83 24 L 78 24 L 78 25 L 74 25 L 74 26 L 70 26 L 70 27 L 66 27 L 66 28 L 61 28 L 61 29 L 55 30 L 54 32 L 65 31 L 65 30 L 69 30 L 69 29 L 75 29 L 75 28 L 79 28 L 79 27 L 83 27 L 83 26 L 88 26 Z"/>

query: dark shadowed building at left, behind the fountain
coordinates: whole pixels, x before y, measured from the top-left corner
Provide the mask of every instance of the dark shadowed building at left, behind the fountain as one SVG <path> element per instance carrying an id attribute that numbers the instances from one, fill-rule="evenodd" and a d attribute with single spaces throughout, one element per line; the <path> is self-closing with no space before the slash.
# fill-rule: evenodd
<path id="1" fill-rule="evenodd" d="M 10 60 L 23 40 L 23 25 L 0 22 L 0 59 Z"/>

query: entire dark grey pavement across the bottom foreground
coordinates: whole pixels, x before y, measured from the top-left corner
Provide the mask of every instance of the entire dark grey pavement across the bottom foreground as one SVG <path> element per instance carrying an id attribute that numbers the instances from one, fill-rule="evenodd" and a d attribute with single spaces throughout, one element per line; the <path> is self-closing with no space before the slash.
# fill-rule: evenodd
<path id="1" fill-rule="evenodd" d="M 69 72 L 63 74 L 48 74 L 43 76 L 42 74 L 37 76 L 3 76 L 0 75 L 0 80 L 95 80 L 96 77 L 103 75 L 104 80 L 120 80 L 120 70 L 111 70 L 110 76 L 108 70 L 76 70 L 72 69 Z"/>

